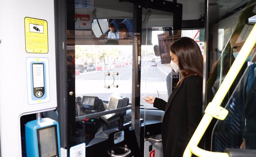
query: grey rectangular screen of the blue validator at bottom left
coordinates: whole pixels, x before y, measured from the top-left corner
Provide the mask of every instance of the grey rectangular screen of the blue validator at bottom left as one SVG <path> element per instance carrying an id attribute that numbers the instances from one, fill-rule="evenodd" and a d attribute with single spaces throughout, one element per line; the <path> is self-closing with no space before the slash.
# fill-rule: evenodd
<path id="1" fill-rule="evenodd" d="M 39 157 L 56 157 L 58 155 L 56 125 L 37 130 Z"/>

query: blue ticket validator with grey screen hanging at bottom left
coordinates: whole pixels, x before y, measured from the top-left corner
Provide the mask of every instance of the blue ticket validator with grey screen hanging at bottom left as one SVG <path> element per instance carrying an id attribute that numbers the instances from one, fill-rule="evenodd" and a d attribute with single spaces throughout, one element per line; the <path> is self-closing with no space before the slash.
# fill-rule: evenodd
<path id="1" fill-rule="evenodd" d="M 60 139 L 59 124 L 50 118 L 30 121 L 25 126 L 27 157 L 59 157 Z"/>

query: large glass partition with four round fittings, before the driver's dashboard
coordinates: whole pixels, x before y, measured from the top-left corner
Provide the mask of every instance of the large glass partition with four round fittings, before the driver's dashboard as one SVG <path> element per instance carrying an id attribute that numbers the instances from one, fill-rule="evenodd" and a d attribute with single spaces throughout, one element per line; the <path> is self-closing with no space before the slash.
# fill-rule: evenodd
<path id="1" fill-rule="evenodd" d="M 94 149 L 111 133 L 131 126 L 133 3 L 75 1 L 75 30 L 67 31 L 68 95 L 74 98 L 68 102 L 68 146 L 85 143 Z M 115 34 L 121 38 L 108 38 Z"/>

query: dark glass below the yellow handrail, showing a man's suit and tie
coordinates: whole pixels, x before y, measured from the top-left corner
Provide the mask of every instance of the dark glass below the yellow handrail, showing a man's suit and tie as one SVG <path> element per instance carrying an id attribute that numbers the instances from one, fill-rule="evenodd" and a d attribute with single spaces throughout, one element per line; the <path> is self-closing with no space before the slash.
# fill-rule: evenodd
<path id="1" fill-rule="evenodd" d="M 256 47 L 256 46 L 255 46 Z M 223 152 L 225 148 L 256 149 L 256 80 L 255 50 L 248 58 L 247 68 L 225 108 L 229 115 L 217 121 L 212 133 L 212 150 Z"/>

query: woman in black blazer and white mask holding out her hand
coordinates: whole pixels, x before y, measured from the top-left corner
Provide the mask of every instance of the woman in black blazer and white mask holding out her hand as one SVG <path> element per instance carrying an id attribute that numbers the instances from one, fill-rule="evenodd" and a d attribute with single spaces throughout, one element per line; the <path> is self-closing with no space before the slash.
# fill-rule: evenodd
<path id="1" fill-rule="evenodd" d="M 165 111 L 162 121 L 164 157 L 182 157 L 202 117 L 203 56 L 197 43 L 183 37 L 171 47 L 171 67 L 181 80 L 168 102 L 147 97 L 146 102 Z"/>

